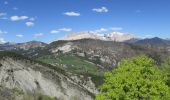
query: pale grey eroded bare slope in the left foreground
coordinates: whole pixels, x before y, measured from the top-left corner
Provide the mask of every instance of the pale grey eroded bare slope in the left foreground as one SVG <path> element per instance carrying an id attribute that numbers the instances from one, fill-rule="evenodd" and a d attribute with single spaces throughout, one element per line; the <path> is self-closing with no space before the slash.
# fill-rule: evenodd
<path id="1" fill-rule="evenodd" d="M 68 75 L 30 61 L 0 60 L 0 86 L 20 89 L 24 93 L 41 92 L 62 100 L 92 100 L 92 94 Z"/>

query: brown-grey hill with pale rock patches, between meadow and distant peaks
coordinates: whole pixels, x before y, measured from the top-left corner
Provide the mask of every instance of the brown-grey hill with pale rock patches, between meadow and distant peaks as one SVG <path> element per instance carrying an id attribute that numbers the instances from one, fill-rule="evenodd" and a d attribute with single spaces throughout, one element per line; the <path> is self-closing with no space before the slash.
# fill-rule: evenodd
<path id="1" fill-rule="evenodd" d="M 146 54 L 160 62 L 169 55 L 169 48 L 161 46 L 153 47 L 147 45 L 136 45 L 116 41 L 81 39 L 52 42 L 49 44 L 48 48 L 44 50 L 44 52 L 48 52 L 48 55 L 58 55 L 60 53 L 61 55 L 63 53 L 75 54 L 93 61 L 94 63 L 101 65 L 103 68 L 112 68 L 122 59 L 140 54 Z"/>

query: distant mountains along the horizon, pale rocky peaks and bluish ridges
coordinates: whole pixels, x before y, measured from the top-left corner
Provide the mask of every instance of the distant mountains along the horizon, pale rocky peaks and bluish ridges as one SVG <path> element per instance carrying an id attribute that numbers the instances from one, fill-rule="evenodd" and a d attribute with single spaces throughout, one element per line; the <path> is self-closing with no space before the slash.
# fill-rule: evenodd
<path id="1" fill-rule="evenodd" d="M 168 39 L 161 39 L 159 37 L 154 38 L 135 38 L 131 34 L 121 33 L 121 32 L 113 32 L 107 35 L 98 35 L 95 33 L 90 32 L 78 32 L 78 33 L 71 33 L 64 37 L 59 41 L 74 41 L 74 40 L 81 40 L 81 39 L 94 39 L 94 40 L 102 40 L 102 41 L 115 41 L 115 42 L 123 42 L 129 44 L 136 44 L 136 45 L 158 45 L 158 46 L 169 46 L 170 40 Z M 53 43 L 53 42 L 52 42 Z M 7 42 L 4 44 L 0 44 L 0 50 L 30 50 L 30 49 L 41 49 L 49 44 L 43 43 L 40 41 L 29 41 L 25 43 L 11 43 Z"/>

